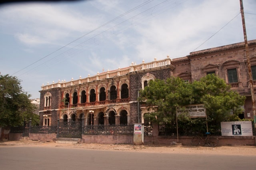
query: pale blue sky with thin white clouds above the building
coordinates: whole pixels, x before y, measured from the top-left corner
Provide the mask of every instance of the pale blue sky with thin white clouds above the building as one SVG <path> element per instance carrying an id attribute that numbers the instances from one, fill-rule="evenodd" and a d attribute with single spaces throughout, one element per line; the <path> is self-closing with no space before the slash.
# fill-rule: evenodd
<path id="1" fill-rule="evenodd" d="M 256 0 L 243 0 L 248 40 Z M 244 42 L 239 0 L 78 0 L 0 5 L 0 72 L 42 84 Z"/>

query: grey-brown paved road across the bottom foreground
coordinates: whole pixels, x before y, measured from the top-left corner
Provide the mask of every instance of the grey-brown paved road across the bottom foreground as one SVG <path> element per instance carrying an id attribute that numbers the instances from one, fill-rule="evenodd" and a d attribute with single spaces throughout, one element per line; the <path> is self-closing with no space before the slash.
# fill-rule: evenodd
<path id="1" fill-rule="evenodd" d="M 0 147 L 0 170 L 255 170 L 255 156 Z"/>

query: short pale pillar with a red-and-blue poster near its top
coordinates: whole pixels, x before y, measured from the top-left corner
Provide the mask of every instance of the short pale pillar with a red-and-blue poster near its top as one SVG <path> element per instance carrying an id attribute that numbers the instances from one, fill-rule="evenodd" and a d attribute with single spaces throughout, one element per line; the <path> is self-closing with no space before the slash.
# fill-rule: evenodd
<path id="1" fill-rule="evenodd" d="M 144 124 L 134 124 L 133 144 L 143 145 L 144 144 Z"/>

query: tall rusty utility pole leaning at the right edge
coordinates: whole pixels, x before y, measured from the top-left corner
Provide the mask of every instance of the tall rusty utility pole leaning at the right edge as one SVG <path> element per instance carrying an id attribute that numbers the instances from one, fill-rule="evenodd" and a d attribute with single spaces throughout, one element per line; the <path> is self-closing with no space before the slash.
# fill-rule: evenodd
<path id="1" fill-rule="evenodd" d="M 246 36 L 246 28 L 245 28 L 245 21 L 244 21 L 244 6 L 243 0 L 240 0 L 240 12 L 242 15 L 242 24 L 244 30 L 244 43 L 245 43 L 245 50 L 246 50 L 246 58 L 247 58 L 247 66 L 248 66 L 248 74 L 250 79 L 250 89 L 251 89 L 251 97 L 252 97 L 252 111 L 253 111 L 253 120 L 254 120 L 254 129 L 256 129 L 256 106 L 255 106 L 255 99 L 254 99 L 254 88 L 252 82 L 252 70 L 251 70 L 251 63 L 250 63 L 250 56 L 249 56 L 249 48 Z"/>

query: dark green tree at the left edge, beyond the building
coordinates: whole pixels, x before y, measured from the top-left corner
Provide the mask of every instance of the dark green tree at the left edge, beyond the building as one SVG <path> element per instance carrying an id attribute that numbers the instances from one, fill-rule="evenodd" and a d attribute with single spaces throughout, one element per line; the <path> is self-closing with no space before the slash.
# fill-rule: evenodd
<path id="1" fill-rule="evenodd" d="M 22 126 L 30 118 L 38 124 L 39 116 L 33 113 L 36 107 L 29 98 L 17 77 L 0 75 L 0 127 Z"/>

